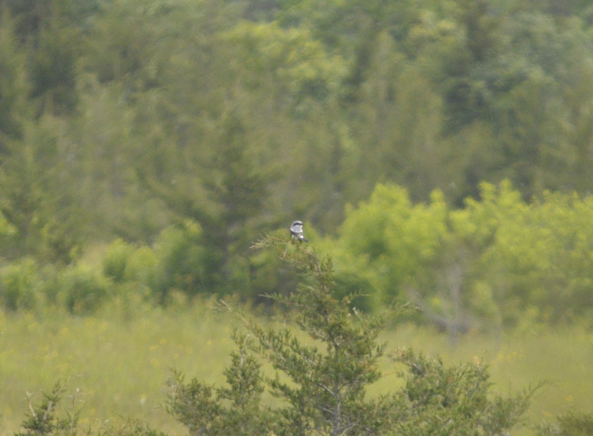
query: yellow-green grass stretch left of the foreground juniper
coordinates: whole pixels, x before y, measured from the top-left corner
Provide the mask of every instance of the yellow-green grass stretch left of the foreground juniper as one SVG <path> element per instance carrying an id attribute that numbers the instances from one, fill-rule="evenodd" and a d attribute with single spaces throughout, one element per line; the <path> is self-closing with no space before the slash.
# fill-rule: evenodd
<path id="1" fill-rule="evenodd" d="M 160 407 L 170 368 L 222 381 L 232 322 L 205 305 L 139 307 L 132 317 L 117 304 L 92 317 L 0 314 L 0 434 L 17 430 L 27 393 L 39 399 L 57 380 L 84 391 L 82 424 L 132 416 L 179 433 Z"/>

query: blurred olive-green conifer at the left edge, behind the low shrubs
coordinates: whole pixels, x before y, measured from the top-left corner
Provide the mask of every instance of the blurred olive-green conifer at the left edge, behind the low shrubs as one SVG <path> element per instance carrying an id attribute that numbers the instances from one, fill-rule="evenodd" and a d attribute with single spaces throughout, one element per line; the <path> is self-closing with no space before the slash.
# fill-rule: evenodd
<path id="1" fill-rule="evenodd" d="M 0 210 L 14 232 L 2 254 L 30 254 L 43 262 L 69 263 L 84 240 L 81 197 L 66 168 L 72 152 L 63 147 L 62 122 L 43 117 L 23 125 L 23 137 L 7 142 L 0 170 Z"/>

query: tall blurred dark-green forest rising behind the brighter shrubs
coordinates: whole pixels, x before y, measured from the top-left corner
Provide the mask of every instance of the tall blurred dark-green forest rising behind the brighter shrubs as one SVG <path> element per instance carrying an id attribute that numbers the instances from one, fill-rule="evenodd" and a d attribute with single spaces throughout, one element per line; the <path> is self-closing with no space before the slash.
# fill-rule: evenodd
<path id="1" fill-rule="evenodd" d="M 264 225 L 296 215 L 333 233 L 377 183 L 457 205 L 503 178 L 524 199 L 584 194 L 593 33 L 586 2 L 569 3 L 4 2 L 4 201 L 29 190 L 49 238 L 37 253 L 15 219 L 12 248 L 68 263 L 80 234 L 146 244 L 193 219 L 232 289 Z M 59 182 L 20 149 L 47 154 Z"/>

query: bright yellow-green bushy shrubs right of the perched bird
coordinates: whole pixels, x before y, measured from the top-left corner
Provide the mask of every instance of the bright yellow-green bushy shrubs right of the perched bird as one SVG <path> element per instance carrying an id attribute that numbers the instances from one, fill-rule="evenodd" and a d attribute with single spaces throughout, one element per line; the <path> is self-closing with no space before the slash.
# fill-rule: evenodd
<path id="1" fill-rule="evenodd" d="M 516 324 L 529 308 L 543 322 L 589 313 L 591 199 L 547 193 L 528 204 L 508 182 L 480 188 L 479 201 L 453 209 L 439 192 L 413 205 L 401 187 L 378 186 L 347 211 L 337 269 L 452 332 Z"/>

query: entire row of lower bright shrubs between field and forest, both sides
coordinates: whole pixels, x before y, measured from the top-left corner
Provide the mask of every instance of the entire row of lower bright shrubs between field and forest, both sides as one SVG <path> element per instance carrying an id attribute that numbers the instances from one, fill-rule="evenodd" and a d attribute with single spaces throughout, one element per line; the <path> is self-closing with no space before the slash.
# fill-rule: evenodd
<path id="1" fill-rule="evenodd" d="M 35 208 L 54 207 L 43 196 L 35 198 Z M 75 301 L 89 298 L 93 303 L 81 311 L 93 313 L 110 295 L 120 294 L 160 304 L 173 295 L 235 294 L 250 303 L 269 304 L 260 295 L 287 296 L 297 288 L 294 268 L 269 252 L 247 251 L 245 240 L 257 224 L 243 218 L 229 229 L 220 225 L 231 220 L 227 215 L 219 221 L 207 219 L 214 226 L 210 231 L 186 220 L 165 228 L 151 245 L 114 241 L 100 266 L 73 263 L 65 268 L 44 260 L 76 256 L 74 241 L 66 254 L 69 243 L 59 238 L 76 223 L 52 227 L 40 222 L 43 218 L 34 210 L 12 210 L 20 213 L 12 221 L 23 218 L 28 241 L 33 244 L 37 235 L 37 245 L 31 246 L 36 256 L 27 257 L 30 260 L 4 266 L 2 301 L 10 310 L 66 304 L 72 311 L 82 304 Z M 438 191 L 429 203 L 413 203 L 402 187 L 379 185 L 368 201 L 347 209 L 339 237 L 322 238 L 314 231 L 309 235 L 334 253 L 334 280 L 339 284 L 333 288 L 334 298 L 352 294 L 350 304 L 362 311 L 412 301 L 422 312 L 410 317 L 457 335 L 527 319 L 586 319 L 592 309 L 591 219 L 591 198 L 546 193 L 527 203 L 508 182 L 498 187 L 483 183 L 480 199 L 468 198 L 464 208 L 449 205 Z M 23 230 L 12 232 L 6 223 L 7 253 L 21 253 L 11 244 Z M 233 242 L 227 246 L 229 240 Z"/>

